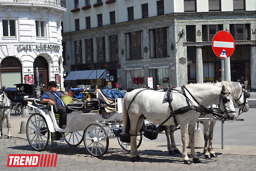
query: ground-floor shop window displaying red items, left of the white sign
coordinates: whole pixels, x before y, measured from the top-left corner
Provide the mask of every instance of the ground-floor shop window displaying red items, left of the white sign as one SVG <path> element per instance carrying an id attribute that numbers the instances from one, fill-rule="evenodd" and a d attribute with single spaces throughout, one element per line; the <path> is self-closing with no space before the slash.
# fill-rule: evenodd
<path id="1" fill-rule="evenodd" d="M 136 89 L 144 87 L 144 70 L 132 69 L 126 70 L 126 83 L 127 89 Z"/>

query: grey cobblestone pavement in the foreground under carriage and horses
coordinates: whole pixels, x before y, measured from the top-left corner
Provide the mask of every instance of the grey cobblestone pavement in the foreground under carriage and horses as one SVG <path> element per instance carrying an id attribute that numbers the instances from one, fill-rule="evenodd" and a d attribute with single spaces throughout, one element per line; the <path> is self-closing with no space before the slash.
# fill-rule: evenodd
<path id="1" fill-rule="evenodd" d="M 130 152 L 121 149 L 108 149 L 107 153 L 100 157 L 92 157 L 84 146 L 71 147 L 59 144 L 51 147 L 49 142 L 47 148 L 42 152 L 33 150 L 28 141 L 22 138 L 7 139 L 3 136 L 0 140 L 0 168 L 5 170 L 80 170 L 80 171 L 249 171 L 256 169 L 256 156 L 250 155 L 225 155 L 217 154 L 213 159 L 204 159 L 203 154 L 197 154 L 201 163 L 191 165 L 183 164 L 182 154 L 169 155 L 167 151 L 143 150 L 139 151 L 142 160 L 132 163 Z M 152 143 L 154 145 L 154 143 Z M 7 168 L 8 154 L 58 154 L 56 167 L 52 168 Z M 189 155 L 190 157 L 190 155 Z"/>

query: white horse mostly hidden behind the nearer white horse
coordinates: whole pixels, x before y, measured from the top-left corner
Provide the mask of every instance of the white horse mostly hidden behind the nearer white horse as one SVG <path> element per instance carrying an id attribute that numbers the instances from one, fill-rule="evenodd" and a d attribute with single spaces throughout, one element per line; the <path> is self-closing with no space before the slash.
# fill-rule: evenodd
<path id="1" fill-rule="evenodd" d="M 215 84 L 210 83 L 210 84 L 215 86 L 222 86 L 222 85 L 225 85 L 226 87 L 228 86 L 231 96 L 233 97 L 235 103 L 239 106 L 239 114 L 240 114 L 240 111 L 246 112 L 249 110 L 247 98 L 250 97 L 250 94 L 246 90 L 247 83 L 248 81 L 246 81 L 244 85 L 242 85 L 240 82 L 222 81 L 219 83 L 215 83 Z M 202 118 L 214 118 L 214 116 L 213 114 L 206 114 Z M 206 159 L 210 159 L 211 157 L 216 157 L 215 152 L 213 151 L 213 129 L 215 124 L 216 124 L 216 120 L 203 121 L 204 156 L 206 157 Z M 175 126 L 173 125 L 166 126 L 167 148 L 168 148 L 169 154 L 171 155 L 180 153 L 180 150 L 178 150 L 174 140 L 174 130 L 175 130 Z"/>

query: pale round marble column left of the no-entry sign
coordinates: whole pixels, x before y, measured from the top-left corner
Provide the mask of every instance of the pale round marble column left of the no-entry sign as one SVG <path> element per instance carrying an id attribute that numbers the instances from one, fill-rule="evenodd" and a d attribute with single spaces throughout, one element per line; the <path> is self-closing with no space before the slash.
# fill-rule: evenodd
<path id="1" fill-rule="evenodd" d="M 204 83 L 204 74 L 202 67 L 202 47 L 195 47 L 195 76 L 196 83 Z"/>

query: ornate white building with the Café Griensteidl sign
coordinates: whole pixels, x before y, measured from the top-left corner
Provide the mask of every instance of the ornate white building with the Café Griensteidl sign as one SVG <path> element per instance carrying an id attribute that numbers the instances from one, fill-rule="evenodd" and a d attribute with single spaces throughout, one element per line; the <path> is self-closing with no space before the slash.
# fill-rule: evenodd
<path id="1" fill-rule="evenodd" d="M 47 88 L 56 80 L 63 88 L 65 7 L 66 0 L 0 0 L 1 86 L 30 83 Z"/>

